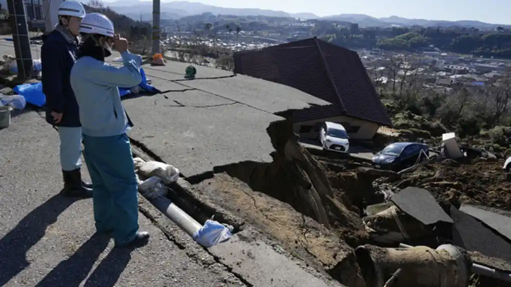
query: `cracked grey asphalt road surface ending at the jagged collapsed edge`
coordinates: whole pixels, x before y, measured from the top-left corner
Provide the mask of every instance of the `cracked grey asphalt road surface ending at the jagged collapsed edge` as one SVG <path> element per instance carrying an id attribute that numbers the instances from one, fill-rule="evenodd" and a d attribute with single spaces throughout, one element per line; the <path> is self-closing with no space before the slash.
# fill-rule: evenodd
<path id="1" fill-rule="evenodd" d="M 166 67 L 177 71 L 181 64 Z M 201 67 L 204 76 L 226 77 L 170 82 L 168 73 L 144 68 L 152 85 L 168 92 L 123 100 L 135 125 L 131 138 L 186 177 L 242 161 L 271 162 L 266 128 L 283 119 L 273 113 L 306 108 L 316 100 L 293 88 L 211 68 Z"/>

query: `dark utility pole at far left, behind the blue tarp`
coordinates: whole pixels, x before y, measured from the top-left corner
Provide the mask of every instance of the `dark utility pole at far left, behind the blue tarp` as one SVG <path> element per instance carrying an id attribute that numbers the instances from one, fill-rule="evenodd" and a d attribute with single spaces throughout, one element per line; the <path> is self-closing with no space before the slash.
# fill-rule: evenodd
<path id="1" fill-rule="evenodd" d="M 7 0 L 7 9 L 18 68 L 18 79 L 21 81 L 28 80 L 33 74 L 33 63 L 25 4 L 23 0 Z"/>

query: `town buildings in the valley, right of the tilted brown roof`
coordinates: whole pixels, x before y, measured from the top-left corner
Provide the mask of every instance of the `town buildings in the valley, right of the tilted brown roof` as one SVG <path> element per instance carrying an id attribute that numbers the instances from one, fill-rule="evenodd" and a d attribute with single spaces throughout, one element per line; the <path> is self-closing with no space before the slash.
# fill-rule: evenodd
<path id="1" fill-rule="evenodd" d="M 442 51 L 410 54 L 374 49 L 359 51 L 359 55 L 367 74 L 378 87 L 400 83 L 402 80 L 409 82 L 413 78 L 425 88 L 440 93 L 450 93 L 461 87 L 498 86 L 511 68 L 509 60 L 484 59 Z"/>

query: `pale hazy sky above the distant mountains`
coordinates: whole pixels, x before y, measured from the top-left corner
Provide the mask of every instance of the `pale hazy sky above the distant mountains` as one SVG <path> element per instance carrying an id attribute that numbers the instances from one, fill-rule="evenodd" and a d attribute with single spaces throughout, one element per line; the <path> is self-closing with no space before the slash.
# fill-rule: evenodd
<path id="1" fill-rule="evenodd" d="M 112 2 L 115 0 L 107 0 Z M 163 2 L 171 2 L 165 1 Z M 479 20 L 511 24 L 510 0 L 201 0 L 229 8 L 261 8 L 289 13 L 311 12 L 318 16 L 357 13 L 374 17 L 396 15 L 432 20 Z"/>

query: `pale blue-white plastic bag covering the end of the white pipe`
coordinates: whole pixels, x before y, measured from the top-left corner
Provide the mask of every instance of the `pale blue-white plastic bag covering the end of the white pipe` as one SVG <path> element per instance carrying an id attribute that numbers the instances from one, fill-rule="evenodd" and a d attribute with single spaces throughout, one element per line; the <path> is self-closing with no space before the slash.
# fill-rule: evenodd
<path id="1" fill-rule="evenodd" d="M 193 234 L 193 239 L 204 247 L 212 247 L 229 240 L 233 236 L 233 229 L 233 226 L 208 219 L 204 226 Z"/>

